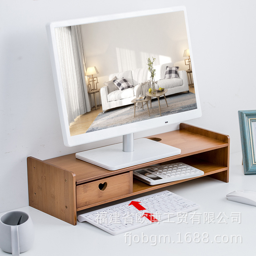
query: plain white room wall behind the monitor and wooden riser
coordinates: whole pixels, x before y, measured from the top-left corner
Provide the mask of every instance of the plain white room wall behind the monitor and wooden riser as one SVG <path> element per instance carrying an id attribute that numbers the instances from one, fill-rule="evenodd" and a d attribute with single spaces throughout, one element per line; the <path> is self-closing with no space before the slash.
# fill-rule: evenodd
<path id="1" fill-rule="evenodd" d="M 130 0 L 125 8 L 117 0 L 2 0 L 0 212 L 28 205 L 27 156 L 43 160 L 99 146 L 63 144 L 45 24 L 177 5 L 187 7 L 203 111 L 189 123 L 229 134 L 231 152 L 241 150 L 237 111 L 255 109 L 254 0 Z"/>

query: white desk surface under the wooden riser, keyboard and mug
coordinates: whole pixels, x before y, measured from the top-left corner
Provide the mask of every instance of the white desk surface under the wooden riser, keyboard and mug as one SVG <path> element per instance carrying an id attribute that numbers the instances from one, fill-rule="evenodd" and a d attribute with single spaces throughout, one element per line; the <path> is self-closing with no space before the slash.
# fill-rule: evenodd
<path id="1" fill-rule="evenodd" d="M 77 222 L 76 226 L 72 226 L 32 207 L 26 206 L 20 208 L 19 210 L 30 214 L 35 226 L 34 245 L 29 251 L 21 255 L 114 256 L 156 255 L 156 253 L 163 253 L 176 256 L 255 256 L 256 207 L 228 201 L 226 198 L 226 195 L 234 190 L 256 190 L 256 175 L 244 175 L 241 163 L 241 153 L 232 154 L 230 156 L 229 183 L 214 180 L 209 177 L 202 177 L 143 194 L 144 196 L 162 190 L 170 190 L 200 204 L 200 208 L 196 210 L 196 213 L 199 214 L 197 216 L 200 216 L 200 218 L 197 219 L 200 223 L 197 223 L 196 215 L 192 217 L 192 213 L 188 213 L 188 223 L 177 223 L 178 218 L 174 217 L 170 220 L 175 223 L 163 223 L 160 221 L 152 225 L 137 228 L 130 231 L 131 238 L 132 240 L 134 239 L 135 242 L 138 242 L 138 238 L 140 238 L 140 242 L 135 243 L 132 241 L 130 246 L 130 240 L 128 238 L 127 243 L 125 243 L 125 233 L 112 236 L 87 222 Z M 132 198 L 136 197 L 139 196 Z M 127 199 L 123 201 L 127 201 Z M 85 211 L 82 211 L 80 214 L 84 212 Z M 214 214 L 212 216 L 215 223 L 207 223 L 207 221 L 204 223 L 204 213 Z M 237 213 L 238 219 L 235 218 L 235 214 Z M 240 224 L 237 222 L 239 221 L 239 216 L 241 217 Z M 194 218 L 194 224 L 191 218 Z M 191 235 L 187 233 L 191 233 Z M 185 240 L 186 234 L 187 241 Z M 167 238 L 169 236 L 171 242 L 169 243 L 167 239 L 164 243 L 162 237 L 160 243 L 159 236 L 161 235 L 167 236 Z M 200 235 L 200 240 L 198 238 L 194 240 L 194 237 L 198 235 Z M 241 239 L 238 238 L 238 242 L 236 243 L 235 237 L 233 237 L 233 243 L 231 243 L 231 236 L 233 235 L 240 235 L 242 242 Z M 144 236 L 144 243 L 142 243 L 142 236 Z M 192 237 L 191 242 L 189 242 L 189 236 Z M 203 240 L 203 236 L 208 236 L 208 239 L 204 238 Z M 151 238 L 148 242 L 147 237 L 149 239 Z M 155 238 L 157 240 L 155 240 Z M 178 243 L 179 241 L 183 243 Z M 0 250 L 0 255 L 10 254 Z"/>

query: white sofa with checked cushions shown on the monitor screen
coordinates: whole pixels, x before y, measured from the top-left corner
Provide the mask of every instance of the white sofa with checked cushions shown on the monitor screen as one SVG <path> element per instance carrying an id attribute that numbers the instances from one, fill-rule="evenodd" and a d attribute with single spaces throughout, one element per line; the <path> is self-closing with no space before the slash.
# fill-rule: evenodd
<path id="1" fill-rule="evenodd" d="M 162 65 L 154 66 L 156 69 L 155 81 L 157 81 L 156 89 L 162 87 L 168 89 L 165 95 L 170 95 L 178 92 L 189 92 L 188 78 L 185 70 L 178 71 L 179 78 L 165 78 L 166 66 L 173 67 L 173 63 L 165 63 Z M 134 70 L 127 70 L 120 73 L 109 75 L 109 80 L 114 77 L 117 79 L 125 78 L 133 87 L 123 91 L 116 87 L 115 91 L 109 93 L 108 86 L 100 88 L 101 104 L 103 113 L 110 108 L 121 107 L 132 104 L 131 100 L 136 98 L 136 91 L 141 83 L 150 79 L 150 72 L 148 68 L 137 68 Z M 105 82 L 107 83 L 107 82 Z M 112 87 L 113 90 L 113 87 Z"/>

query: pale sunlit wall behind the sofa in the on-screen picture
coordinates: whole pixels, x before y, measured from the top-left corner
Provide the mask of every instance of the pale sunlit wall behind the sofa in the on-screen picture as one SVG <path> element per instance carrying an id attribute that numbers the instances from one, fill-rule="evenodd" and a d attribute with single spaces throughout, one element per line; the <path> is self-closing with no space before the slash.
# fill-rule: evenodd
<path id="1" fill-rule="evenodd" d="M 156 58 L 154 65 L 173 62 L 180 70 L 188 69 L 183 11 L 85 24 L 82 35 L 86 65 L 99 71 L 98 88 L 109 74 L 147 68 L 149 57 Z"/>

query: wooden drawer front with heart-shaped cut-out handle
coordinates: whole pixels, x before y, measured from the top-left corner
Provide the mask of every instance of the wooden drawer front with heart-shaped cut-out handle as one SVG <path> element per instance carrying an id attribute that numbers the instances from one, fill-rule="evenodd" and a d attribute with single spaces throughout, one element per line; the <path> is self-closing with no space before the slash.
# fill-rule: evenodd
<path id="1" fill-rule="evenodd" d="M 76 208 L 132 193 L 132 172 L 76 186 Z"/>

